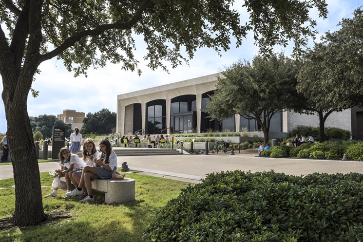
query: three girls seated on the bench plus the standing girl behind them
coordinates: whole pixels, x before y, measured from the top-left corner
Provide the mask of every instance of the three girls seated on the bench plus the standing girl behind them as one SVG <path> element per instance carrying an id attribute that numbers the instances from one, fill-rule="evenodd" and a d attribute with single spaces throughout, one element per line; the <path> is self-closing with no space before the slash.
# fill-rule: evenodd
<path id="1" fill-rule="evenodd" d="M 55 172 L 55 177 L 65 177 L 67 192 L 65 197 L 81 197 L 79 202 L 95 202 L 92 192 L 92 180 L 112 179 L 112 173 L 117 169 L 117 156 L 112 150 L 108 139 L 99 142 L 99 152 L 95 142 L 87 138 L 83 142 L 83 159 L 78 157 L 81 148 L 82 135 L 78 128 L 71 134 L 71 147 L 59 150 L 60 170 Z M 76 187 L 71 190 L 71 184 Z M 56 197 L 58 186 L 52 187 L 53 191 L 45 197 Z"/>

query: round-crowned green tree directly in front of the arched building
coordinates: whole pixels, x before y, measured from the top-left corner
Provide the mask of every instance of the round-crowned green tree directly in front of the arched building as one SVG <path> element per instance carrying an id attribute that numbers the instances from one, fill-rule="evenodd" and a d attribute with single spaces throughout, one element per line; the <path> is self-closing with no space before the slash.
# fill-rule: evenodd
<path id="1" fill-rule="evenodd" d="M 207 112 L 222 121 L 233 114 L 256 120 L 268 142 L 270 121 L 276 112 L 298 109 L 303 103 L 296 91 L 298 66 L 283 54 L 255 56 L 252 63 L 238 61 L 218 77 Z"/>

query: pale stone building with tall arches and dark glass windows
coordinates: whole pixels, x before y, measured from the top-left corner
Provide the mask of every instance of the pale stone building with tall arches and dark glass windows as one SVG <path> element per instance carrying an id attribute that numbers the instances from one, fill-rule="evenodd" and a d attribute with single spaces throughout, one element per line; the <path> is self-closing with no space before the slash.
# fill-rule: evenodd
<path id="1" fill-rule="evenodd" d="M 190 133 L 218 131 L 258 131 L 255 120 L 236 114 L 221 123 L 204 112 L 216 90 L 217 76 L 210 74 L 167 85 L 117 95 L 117 132 L 123 134 L 143 130 L 144 133 Z M 337 127 L 352 132 L 353 139 L 363 139 L 363 109 L 331 113 L 325 127 Z M 270 123 L 270 138 L 287 136 L 296 126 L 319 127 L 317 115 L 290 111 L 276 113 Z M 316 137 L 318 138 L 318 137 Z"/>

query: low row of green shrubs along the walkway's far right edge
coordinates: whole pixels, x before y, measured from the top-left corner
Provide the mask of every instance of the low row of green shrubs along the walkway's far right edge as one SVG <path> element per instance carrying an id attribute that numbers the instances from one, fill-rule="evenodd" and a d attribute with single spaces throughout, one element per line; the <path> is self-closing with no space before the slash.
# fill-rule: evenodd
<path id="1" fill-rule="evenodd" d="M 261 152 L 261 156 L 271 158 L 297 157 L 310 159 L 339 160 L 346 154 L 348 159 L 363 161 L 363 142 L 316 142 L 302 144 L 299 147 L 274 146 Z"/>

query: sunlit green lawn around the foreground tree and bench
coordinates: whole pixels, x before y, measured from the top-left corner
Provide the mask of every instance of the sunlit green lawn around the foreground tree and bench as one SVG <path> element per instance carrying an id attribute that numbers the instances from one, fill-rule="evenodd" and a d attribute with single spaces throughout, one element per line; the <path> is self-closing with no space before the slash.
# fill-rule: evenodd
<path id="1" fill-rule="evenodd" d="M 188 183 L 169 179 L 127 174 L 136 180 L 136 201 L 121 205 L 105 205 L 101 194 L 95 204 L 80 204 L 79 199 L 63 198 L 59 190 L 55 198 L 43 198 L 44 211 L 71 218 L 48 221 L 38 226 L 0 230 L 1 242 L 144 242 L 142 235 L 154 214 L 177 197 Z M 43 196 L 51 192 L 53 177 L 40 173 Z M 0 218 L 9 217 L 15 209 L 14 179 L 0 180 Z"/>

